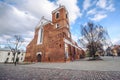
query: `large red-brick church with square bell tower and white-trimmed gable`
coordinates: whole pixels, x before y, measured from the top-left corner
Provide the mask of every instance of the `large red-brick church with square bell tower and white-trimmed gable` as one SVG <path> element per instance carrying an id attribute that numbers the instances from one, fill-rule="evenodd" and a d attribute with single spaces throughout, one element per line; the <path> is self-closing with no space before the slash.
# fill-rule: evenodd
<path id="1" fill-rule="evenodd" d="M 41 18 L 33 40 L 26 49 L 25 61 L 64 62 L 84 57 L 84 51 L 72 40 L 68 11 L 64 6 L 52 11 L 52 21 Z"/>

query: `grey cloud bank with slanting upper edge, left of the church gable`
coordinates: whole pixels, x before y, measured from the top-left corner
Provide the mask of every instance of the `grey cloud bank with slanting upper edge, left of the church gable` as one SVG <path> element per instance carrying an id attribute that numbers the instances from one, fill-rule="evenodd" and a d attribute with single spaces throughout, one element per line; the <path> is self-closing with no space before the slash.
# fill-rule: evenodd
<path id="1" fill-rule="evenodd" d="M 34 31 L 38 21 L 39 19 L 34 16 L 19 11 L 13 6 L 0 3 L 0 36 Z"/>

